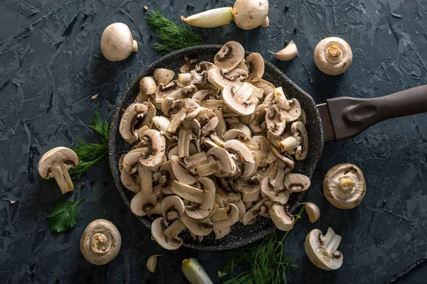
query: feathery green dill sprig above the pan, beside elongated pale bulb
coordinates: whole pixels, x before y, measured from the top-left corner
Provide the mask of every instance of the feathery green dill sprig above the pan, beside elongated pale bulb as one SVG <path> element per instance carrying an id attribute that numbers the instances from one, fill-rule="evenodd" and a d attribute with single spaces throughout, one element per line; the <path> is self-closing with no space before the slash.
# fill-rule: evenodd
<path id="1" fill-rule="evenodd" d="M 176 25 L 157 10 L 147 12 L 145 20 L 149 26 L 155 28 L 162 40 L 162 43 L 154 43 L 152 47 L 159 53 L 169 53 L 181 48 L 204 44 L 201 35 L 191 31 L 188 26 Z"/>

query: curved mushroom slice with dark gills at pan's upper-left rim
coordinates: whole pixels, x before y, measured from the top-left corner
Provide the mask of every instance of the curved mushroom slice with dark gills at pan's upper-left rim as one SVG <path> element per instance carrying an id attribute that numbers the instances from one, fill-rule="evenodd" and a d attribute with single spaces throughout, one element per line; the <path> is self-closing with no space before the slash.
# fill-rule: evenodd
<path id="1" fill-rule="evenodd" d="M 125 113 L 120 120 L 120 134 L 127 143 L 135 143 L 138 141 L 137 129 L 139 123 L 147 114 L 148 108 L 144 104 L 130 104 L 125 110 Z"/>

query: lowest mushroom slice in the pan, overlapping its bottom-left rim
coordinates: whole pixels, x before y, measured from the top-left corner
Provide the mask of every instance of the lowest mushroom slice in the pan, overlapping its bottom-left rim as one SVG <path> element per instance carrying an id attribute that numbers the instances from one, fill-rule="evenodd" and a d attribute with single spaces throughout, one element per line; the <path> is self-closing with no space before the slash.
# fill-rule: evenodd
<path id="1" fill-rule="evenodd" d="M 181 219 L 175 220 L 170 226 L 168 226 L 166 219 L 163 217 L 159 217 L 152 222 L 152 236 L 154 241 L 169 251 L 179 249 L 182 246 L 183 241 L 178 235 L 185 229 L 186 226 L 181 222 Z"/>

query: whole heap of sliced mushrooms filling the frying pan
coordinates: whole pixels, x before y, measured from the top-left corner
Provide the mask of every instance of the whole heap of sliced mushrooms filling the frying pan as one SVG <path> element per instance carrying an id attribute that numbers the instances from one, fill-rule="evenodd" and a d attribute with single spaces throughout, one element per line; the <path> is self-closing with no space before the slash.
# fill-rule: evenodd
<path id="1" fill-rule="evenodd" d="M 230 41 L 214 63 L 186 58 L 177 79 L 156 69 L 139 81 L 120 121 L 134 145 L 120 158 L 121 180 L 136 193 L 132 212 L 154 219 L 152 236 L 164 249 L 178 249 L 186 229 L 199 241 L 212 231 L 221 239 L 258 216 L 292 229 L 289 197 L 310 187 L 310 178 L 291 173 L 307 155 L 306 118 L 263 74 L 261 55 L 245 59 Z"/>

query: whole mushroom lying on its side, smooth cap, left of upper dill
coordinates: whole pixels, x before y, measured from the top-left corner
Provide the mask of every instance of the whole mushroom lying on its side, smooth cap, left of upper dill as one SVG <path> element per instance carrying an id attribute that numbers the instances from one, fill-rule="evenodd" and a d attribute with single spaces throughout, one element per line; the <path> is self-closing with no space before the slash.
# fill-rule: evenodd
<path id="1" fill-rule="evenodd" d="M 132 53 L 132 33 L 124 23 L 112 23 L 101 35 L 101 52 L 110 61 L 124 60 Z"/>

